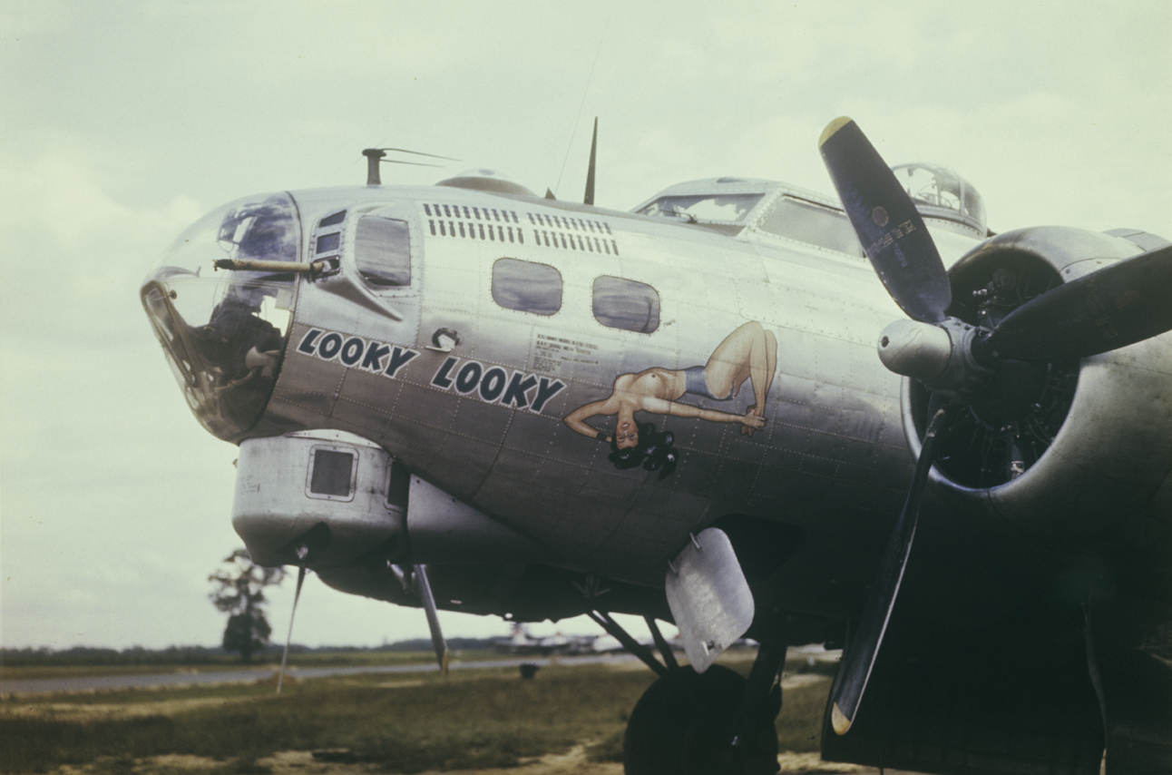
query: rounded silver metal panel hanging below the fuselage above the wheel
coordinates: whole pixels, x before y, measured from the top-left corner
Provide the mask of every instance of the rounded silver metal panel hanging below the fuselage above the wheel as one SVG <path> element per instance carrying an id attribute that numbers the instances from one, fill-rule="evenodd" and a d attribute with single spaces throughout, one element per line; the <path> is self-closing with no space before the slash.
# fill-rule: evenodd
<path id="1" fill-rule="evenodd" d="M 703 673 L 752 624 L 752 592 L 732 542 L 718 528 L 693 536 L 669 565 L 667 604 L 688 661 Z"/>

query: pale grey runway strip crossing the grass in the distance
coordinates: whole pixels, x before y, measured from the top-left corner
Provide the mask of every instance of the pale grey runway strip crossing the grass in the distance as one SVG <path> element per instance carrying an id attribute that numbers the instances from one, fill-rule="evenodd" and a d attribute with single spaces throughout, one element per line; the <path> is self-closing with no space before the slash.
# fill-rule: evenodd
<path id="1" fill-rule="evenodd" d="M 449 669 L 484 669 L 492 667 L 520 667 L 552 662 L 559 665 L 598 665 L 600 662 L 631 661 L 631 654 L 597 654 L 587 657 L 533 657 L 530 659 L 485 659 L 478 661 L 454 661 Z M 327 678 L 331 675 L 362 675 L 366 673 L 435 673 L 440 667 L 432 662 L 416 665 L 372 665 L 359 667 L 304 667 L 291 668 L 288 674 L 299 680 Z M 211 684 L 247 684 L 273 675 L 272 665 L 248 669 L 220 671 L 216 673 L 156 673 L 152 675 L 94 675 L 90 678 L 42 678 L 20 681 L 0 680 L 0 694 L 52 694 L 59 692 L 104 692 L 110 689 L 152 688 L 176 686 L 207 686 Z"/>

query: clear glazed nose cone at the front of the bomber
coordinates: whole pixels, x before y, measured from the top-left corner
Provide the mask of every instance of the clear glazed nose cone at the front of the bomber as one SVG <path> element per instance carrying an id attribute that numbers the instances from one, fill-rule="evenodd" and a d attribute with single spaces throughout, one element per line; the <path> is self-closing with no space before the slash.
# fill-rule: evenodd
<path id="1" fill-rule="evenodd" d="M 238 199 L 192 224 L 141 294 L 188 403 L 220 439 L 264 414 L 292 318 L 297 276 L 217 271 L 219 259 L 295 263 L 301 244 L 285 193 Z"/>

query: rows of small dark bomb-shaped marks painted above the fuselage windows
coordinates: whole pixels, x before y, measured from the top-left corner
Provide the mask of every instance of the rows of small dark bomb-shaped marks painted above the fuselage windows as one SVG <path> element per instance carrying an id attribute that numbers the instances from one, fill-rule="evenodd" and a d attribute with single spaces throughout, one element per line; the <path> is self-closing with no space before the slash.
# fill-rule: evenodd
<path id="1" fill-rule="evenodd" d="M 434 237 L 456 237 L 525 244 L 526 229 L 515 210 L 470 208 L 459 204 L 424 203 L 428 229 Z M 561 250 L 619 254 L 619 243 L 601 220 L 526 212 L 532 244 Z M 517 224 L 513 226 L 512 224 Z"/>

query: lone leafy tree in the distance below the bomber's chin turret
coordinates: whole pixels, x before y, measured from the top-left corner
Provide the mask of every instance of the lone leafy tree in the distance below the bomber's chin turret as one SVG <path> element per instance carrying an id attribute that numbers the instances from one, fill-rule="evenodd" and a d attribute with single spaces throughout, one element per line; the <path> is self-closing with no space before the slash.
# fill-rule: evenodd
<path id="1" fill-rule="evenodd" d="M 265 647 L 273 628 L 265 619 L 265 587 L 285 580 L 280 567 L 261 567 L 248 552 L 237 549 L 224 558 L 224 566 L 207 577 L 216 589 L 207 594 L 212 604 L 229 614 L 224 627 L 224 651 L 239 652 L 243 661 Z"/>

